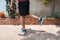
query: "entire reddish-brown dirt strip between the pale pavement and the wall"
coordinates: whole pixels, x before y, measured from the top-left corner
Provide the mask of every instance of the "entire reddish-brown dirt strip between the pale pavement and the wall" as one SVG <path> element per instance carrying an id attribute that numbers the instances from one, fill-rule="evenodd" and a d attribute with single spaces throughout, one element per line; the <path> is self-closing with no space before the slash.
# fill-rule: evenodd
<path id="1" fill-rule="evenodd" d="M 19 18 L 0 18 L 0 25 L 19 25 Z M 25 17 L 25 24 L 27 25 L 40 25 L 39 20 L 33 16 Z M 43 25 L 60 25 L 60 18 L 46 18 Z"/>

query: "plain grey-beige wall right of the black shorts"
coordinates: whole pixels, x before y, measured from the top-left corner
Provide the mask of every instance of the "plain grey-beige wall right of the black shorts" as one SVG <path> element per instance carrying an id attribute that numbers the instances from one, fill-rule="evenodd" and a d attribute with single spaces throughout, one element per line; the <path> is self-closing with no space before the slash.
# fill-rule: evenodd
<path id="1" fill-rule="evenodd" d="M 60 1 L 56 0 L 55 11 L 60 10 Z M 51 16 L 53 1 L 44 6 L 42 0 L 30 0 L 30 13 L 36 16 Z"/>

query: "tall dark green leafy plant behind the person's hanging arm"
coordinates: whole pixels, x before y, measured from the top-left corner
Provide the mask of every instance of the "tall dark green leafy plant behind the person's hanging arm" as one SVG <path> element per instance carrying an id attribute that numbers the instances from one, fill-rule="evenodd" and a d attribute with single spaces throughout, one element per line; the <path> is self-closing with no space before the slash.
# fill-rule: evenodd
<path id="1" fill-rule="evenodd" d="M 16 13 L 16 4 L 15 4 L 15 2 L 16 1 L 14 1 L 14 10 L 11 10 L 10 9 L 10 1 L 11 0 L 6 0 L 6 11 L 8 12 L 8 15 L 9 15 L 9 17 L 10 18 L 15 18 L 15 13 Z"/>

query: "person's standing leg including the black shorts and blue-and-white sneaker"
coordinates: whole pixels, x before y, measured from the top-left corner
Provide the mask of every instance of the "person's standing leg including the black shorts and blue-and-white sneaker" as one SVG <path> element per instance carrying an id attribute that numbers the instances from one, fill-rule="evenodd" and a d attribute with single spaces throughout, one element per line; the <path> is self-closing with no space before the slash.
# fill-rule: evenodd
<path id="1" fill-rule="evenodd" d="M 20 34 L 24 34 L 26 32 L 26 29 L 25 29 L 25 18 L 24 18 L 24 16 L 26 16 L 27 13 L 29 12 L 29 7 L 28 7 L 29 4 L 28 4 L 27 1 L 20 2 L 18 4 L 19 4 L 19 12 L 20 12 L 20 23 L 22 25 L 22 29 L 20 31 L 21 32 Z"/>

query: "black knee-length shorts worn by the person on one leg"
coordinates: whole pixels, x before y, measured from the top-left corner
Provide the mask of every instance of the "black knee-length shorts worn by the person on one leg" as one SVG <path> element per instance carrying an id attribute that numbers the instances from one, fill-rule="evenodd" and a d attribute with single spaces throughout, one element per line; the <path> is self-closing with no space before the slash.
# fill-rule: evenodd
<path id="1" fill-rule="evenodd" d="M 29 1 L 18 2 L 20 16 L 29 15 Z"/>

